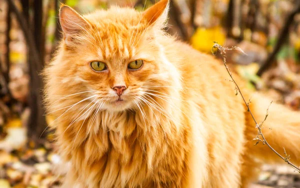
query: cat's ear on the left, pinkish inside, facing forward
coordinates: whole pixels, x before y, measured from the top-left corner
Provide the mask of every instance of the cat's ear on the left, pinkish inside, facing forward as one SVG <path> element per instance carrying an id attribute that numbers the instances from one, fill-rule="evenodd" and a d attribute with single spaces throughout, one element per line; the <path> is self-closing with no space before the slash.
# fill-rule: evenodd
<path id="1" fill-rule="evenodd" d="M 66 5 L 60 6 L 59 22 L 66 43 L 70 41 L 73 34 L 85 30 L 89 26 L 89 23 L 80 14 Z"/>

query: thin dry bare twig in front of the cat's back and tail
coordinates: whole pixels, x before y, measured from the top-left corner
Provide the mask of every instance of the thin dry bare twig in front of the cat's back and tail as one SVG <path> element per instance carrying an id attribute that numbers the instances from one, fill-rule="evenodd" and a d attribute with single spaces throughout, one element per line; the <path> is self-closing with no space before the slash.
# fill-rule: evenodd
<path id="1" fill-rule="evenodd" d="M 257 128 L 257 136 L 253 139 L 253 140 L 257 140 L 256 144 L 258 144 L 258 142 L 262 142 L 263 144 L 267 145 L 277 156 L 279 156 L 282 160 L 284 160 L 289 166 L 291 166 L 295 171 L 299 172 L 300 173 L 300 169 L 298 167 L 296 167 L 294 164 L 292 164 L 290 161 L 289 161 L 289 157 L 287 156 L 286 152 L 285 152 L 285 149 L 284 150 L 284 154 L 285 154 L 285 157 L 281 156 L 277 151 L 275 151 L 269 144 L 268 142 L 265 140 L 263 134 L 262 134 L 262 131 L 261 131 L 261 126 L 263 124 L 263 122 L 266 120 L 267 116 L 268 116 L 268 108 L 266 110 L 266 115 L 265 115 L 265 118 L 264 120 L 261 122 L 261 123 L 257 123 L 257 121 L 255 120 L 250 108 L 249 108 L 249 102 L 247 103 L 244 96 L 242 95 L 237 83 L 235 82 L 235 80 L 233 79 L 232 77 L 232 73 L 230 72 L 227 64 L 226 64 L 226 50 L 239 50 L 241 51 L 242 53 L 244 53 L 239 47 L 231 47 L 231 48 L 226 48 L 226 47 L 223 47 L 221 45 L 219 45 L 217 42 L 214 42 L 214 45 L 212 46 L 212 53 L 215 55 L 216 54 L 216 51 L 219 51 L 221 53 L 221 56 L 222 56 L 222 60 L 223 60 L 223 64 L 232 80 L 232 82 L 234 83 L 235 85 L 235 89 L 238 91 L 238 93 L 240 94 L 244 104 L 246 105 L 247 107 L 247 111 L 250 113 L 254 123 L 255 123 L 255 127 Z"/>

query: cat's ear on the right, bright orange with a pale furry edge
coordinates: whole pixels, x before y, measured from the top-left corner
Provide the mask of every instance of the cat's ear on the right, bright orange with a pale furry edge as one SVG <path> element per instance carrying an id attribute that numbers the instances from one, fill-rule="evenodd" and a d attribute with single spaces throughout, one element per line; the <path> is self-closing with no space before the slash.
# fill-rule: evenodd
<path id="1" fill-rule="evenodd" d="M 148 21 L 148 25 L 157 25 L 163 27 L 167 20 L 167 13 L 169 8 L 169 0 L 160 0 L 148 9 L 146 9 L 142 16 Z"/>

